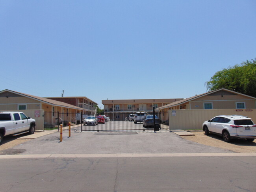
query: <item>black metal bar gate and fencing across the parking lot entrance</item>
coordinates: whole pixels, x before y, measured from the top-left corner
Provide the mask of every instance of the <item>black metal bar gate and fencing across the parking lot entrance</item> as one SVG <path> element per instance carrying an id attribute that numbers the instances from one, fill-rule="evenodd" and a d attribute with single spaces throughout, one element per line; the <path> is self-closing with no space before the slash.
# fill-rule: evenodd
<path id="1" fill-rule="evenodd" d="M 74 132 L 169 132 L 169 116 L 168 113 L 155 112 L 155 119 L 150 118 L 148 124 L 143 125 L 143 122 L 137 122 L 132 117 L 135 114 L 131 112 L 115 112 L 105 114 L 82 114 L 82 113 L 59 113 L 59 112 L 45 112 L 44 130 L 60 130 L 60 125 L 63 125 L 63 131 L 70 129 Z M 104 117 L 105 116 L 105 117 Z M 145 112 L 137 118 L 144 119 L 145 116 L 154 117 L 152 112 Z M 88 119 L 93 121 L 97 118 L 98 122 L 95 124 L 88 123 Z M 104 118 L 104 122 L 102 122 Z M 136 118 L 135 118 L 136 119 Z M 95 122 L 95 121 L 93 121 Z M 155 124 L 154 124 L 155 122 Z M 155 125 L 155 126 L 154 126 Z"/>

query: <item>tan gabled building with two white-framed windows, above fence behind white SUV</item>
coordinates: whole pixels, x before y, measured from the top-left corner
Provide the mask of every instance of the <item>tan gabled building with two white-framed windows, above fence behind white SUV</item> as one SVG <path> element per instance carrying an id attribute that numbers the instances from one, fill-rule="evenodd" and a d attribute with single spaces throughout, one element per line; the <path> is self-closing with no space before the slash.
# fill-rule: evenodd
<path id="1" fill-rule="evenodd" d="M 167 112 L 179 109 L 256 109 L 256 98 L 222 88 L 179 100 L 156 110 Z"/>

